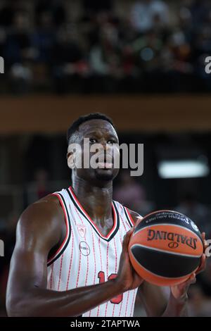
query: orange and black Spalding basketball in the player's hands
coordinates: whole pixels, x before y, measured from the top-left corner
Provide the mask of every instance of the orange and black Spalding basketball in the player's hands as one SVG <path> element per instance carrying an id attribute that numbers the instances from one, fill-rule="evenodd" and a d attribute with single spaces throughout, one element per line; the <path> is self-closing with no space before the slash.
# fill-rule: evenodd
<path id="1" fill-rule="evenodd" d="M 132 266 L 144 280 L 170 286 L 197 270 L 203 240 L 193 221 L 175 211 L 155 211 L 136 224 L 129 241 Z"/>

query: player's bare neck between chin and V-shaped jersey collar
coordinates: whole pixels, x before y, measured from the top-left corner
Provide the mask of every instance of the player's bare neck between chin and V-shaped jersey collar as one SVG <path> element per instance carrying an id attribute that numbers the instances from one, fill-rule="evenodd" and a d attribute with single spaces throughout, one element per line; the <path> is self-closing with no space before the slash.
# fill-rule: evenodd
<path id="1" fill-rule="evenodd" d="M 98 223 L 101 220 L 101 223 L 105 223 L 108 218 L 112 218 L 112 181 L 98 187 L 74 176 L 72 178 L 72 189 L 77 199 L 79 199 L 79 203 L 94 222 Z"/>

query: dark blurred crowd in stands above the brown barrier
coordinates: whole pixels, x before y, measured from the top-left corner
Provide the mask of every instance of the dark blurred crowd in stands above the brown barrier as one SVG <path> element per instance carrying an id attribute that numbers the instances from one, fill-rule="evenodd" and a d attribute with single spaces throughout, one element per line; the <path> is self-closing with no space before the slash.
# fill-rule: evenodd
<path id="1" fill-rule="evenodd" d="M 1 0 L 0 93 L 210 92 L 209 0 Z"/>

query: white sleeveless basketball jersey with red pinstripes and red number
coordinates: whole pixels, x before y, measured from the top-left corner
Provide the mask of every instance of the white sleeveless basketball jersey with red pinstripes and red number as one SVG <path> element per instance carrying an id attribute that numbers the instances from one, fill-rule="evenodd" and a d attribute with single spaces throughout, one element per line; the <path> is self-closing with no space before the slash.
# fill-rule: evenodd
<path id="1" fill-rule="evenodd" d="M 122 240 L 134 225 L 127 208 L 112 202 L 113 227 L 107 236 L 77 200 L 72 188 L 53 193 L 63 208 L 66 236 L 60 249 L 48 261 L 48 289 L 67 291 L 106 282 L 117 275 Z M 82 316 L 133 316 L 136 289 L 101 304 Z"/>

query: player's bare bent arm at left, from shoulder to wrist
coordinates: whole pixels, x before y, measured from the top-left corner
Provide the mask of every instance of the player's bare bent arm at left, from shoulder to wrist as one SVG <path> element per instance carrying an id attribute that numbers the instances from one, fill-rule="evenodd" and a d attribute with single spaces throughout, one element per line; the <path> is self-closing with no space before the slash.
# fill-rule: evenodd
<path id="1" fill-rule="evenodd" d="M 124 292 L 117 280 L 66 292 L 46 289 L 49 251 L 62 239 L 64 227 L 55 196 L 32 204 L 21 216 L 8 278 L 8 316 L 79 316 Z"/>

